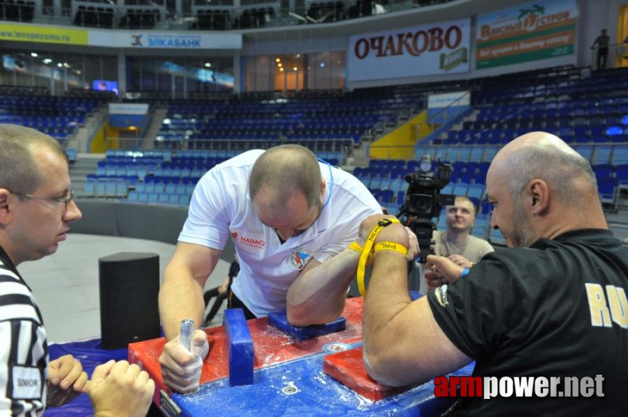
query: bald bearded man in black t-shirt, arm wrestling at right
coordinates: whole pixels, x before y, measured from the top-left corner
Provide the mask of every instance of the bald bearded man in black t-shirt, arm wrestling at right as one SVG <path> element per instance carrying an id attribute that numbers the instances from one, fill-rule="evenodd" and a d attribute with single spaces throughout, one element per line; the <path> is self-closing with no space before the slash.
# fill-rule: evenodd
<path id="1" fill-rule="evenodd" d="M 461 398 L 453 414 L 625 415 L 628 250 L 608 230 L 590 164 L 556 136 L 528 133 L 495 156 L 487 199 L 492 227 L 513 247 L 470 271 L 429 256 L 427 268 L 448 284 L 415 302 L 403 256 L 372 255 L 363 318 L 370 376 L 403 386 L 475 360 L 473 376 L 492 398 Z M 384 241 L 405 245 L 407 236 L 391 224 L 375 243 Z M 517 394 L 521 382 L 536 385 Z"/>

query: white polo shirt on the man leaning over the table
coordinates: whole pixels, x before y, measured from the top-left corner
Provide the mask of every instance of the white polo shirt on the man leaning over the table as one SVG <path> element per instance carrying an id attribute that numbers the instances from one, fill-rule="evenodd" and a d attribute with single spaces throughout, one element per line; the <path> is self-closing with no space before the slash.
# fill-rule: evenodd
<path id="1" fill-rule="evenodd" d="M 321 263 L 343 252 L 358 236 L 360 222 L 382 207 L 352 174 L 320 163 L 327 182 L 319 218 L 283 245 L 260 222 L 248 193 L 253 163 L 264 151 L 244 152 L 216 165 L 194 189 L 179 240 L 223 250 L 231 236 L 240 259 L 233 293 L 256 316 L 285 310 L 288 288 L 308 261 Z M 330 196 L 331 193 L 331 196 Z"/>

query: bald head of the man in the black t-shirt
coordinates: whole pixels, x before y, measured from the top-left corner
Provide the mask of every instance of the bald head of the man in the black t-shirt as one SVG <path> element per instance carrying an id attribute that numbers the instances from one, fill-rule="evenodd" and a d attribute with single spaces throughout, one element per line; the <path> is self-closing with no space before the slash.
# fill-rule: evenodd
<path id="1" fill-rule="evenodd" d="M 608 229 L 589 162 L 550 133 L 505 145 L 486 177 L 491 226 L 515 246 L 576 229 Z"/>

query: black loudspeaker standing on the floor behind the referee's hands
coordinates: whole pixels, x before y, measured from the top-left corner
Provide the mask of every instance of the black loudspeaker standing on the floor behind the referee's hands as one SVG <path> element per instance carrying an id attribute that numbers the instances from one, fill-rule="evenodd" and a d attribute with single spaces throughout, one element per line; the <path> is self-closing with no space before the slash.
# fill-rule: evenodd
<path id="1" fill-rule="evenodd" d="M 104 349 L 160 336 L 159 255 L 119 252 L 98 259 Z"/>

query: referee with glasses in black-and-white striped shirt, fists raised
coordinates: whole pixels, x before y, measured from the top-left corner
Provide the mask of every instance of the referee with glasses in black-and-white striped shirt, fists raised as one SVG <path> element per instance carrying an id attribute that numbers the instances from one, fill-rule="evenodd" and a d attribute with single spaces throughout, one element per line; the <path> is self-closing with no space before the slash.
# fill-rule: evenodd
<path id="1" fill-rule="evenodd" d="M 48 359 L 46 330 L 17 265 L 56 252 L 72 201 L 68 158 L 36 130 L 0 124 L 0 415 L 40 416 L 88 393 L 95 416 L 145 416 L 155 383 L 127 361 L 109 361 L 88 380 L 79 361 Z"/>

